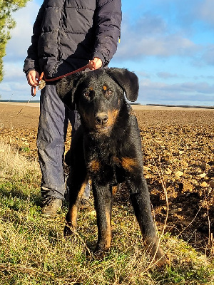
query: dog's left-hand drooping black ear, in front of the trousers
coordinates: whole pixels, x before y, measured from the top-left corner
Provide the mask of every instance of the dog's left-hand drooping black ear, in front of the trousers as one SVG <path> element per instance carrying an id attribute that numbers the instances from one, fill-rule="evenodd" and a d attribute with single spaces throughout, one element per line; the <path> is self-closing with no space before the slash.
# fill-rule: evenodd
<path id="1" fill-rule="evenodd" d="M 56 93 L 58 97 L 61 98 L 63 103 L 71 110 L 75 108 L 73 97 L 81 77 L 82 73 L 76 73 L 75 76 L 67 76 L 56 82 Z"/>

